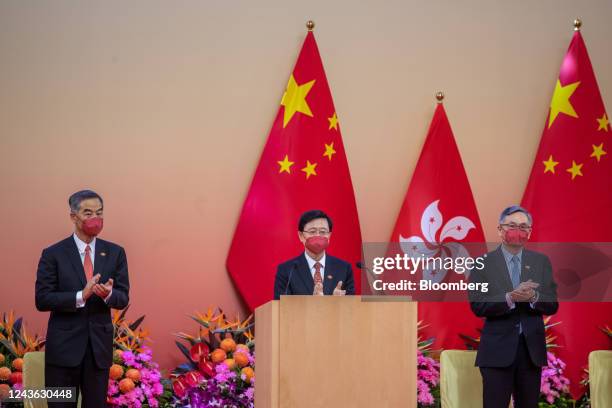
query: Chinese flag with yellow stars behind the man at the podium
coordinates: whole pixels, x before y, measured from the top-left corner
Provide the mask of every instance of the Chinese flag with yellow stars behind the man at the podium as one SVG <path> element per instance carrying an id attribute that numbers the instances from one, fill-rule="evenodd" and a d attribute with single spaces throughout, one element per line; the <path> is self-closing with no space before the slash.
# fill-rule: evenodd
<path id="1" fill-rule="evenodd" d="M 333 221 L 328 252 L 354 264 L 361 232 L 340 122 L 308 32 L 268 135 L 227 257 L 251 310 L 272 299 L 279 263 L 304 251 L 298 220 L 319 209 Z M 360 293 L 355 271 L 355 290 Z"/>

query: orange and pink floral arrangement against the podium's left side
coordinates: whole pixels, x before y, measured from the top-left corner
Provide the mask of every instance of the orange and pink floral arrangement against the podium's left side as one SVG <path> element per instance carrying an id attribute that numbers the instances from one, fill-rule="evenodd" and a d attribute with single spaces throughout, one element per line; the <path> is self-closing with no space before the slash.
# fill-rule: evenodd
<path id="1" fill-rule="evenodd" d="M 196 313 L 195 336 L 178 333 L 177 347 L 187 358 L 172 373 L 174 407 L 254 407 L 255 341 L 253 315 L 227 320 L 219 308 Z"/>

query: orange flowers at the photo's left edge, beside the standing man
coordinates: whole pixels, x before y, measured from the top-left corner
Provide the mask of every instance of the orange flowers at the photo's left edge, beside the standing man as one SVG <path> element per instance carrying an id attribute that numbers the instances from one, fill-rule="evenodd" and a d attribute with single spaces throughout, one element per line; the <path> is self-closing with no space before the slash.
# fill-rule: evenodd
<path id="1" fill-rule="evenodd" d="M 30 336 L 22 318 L 14 312 L 3 313 L 0 319 L 0 399 L 11 389 L 23 388 L 23 356 L 30 351 L 40 351 L 45 341 L 38 335 Z M 20 403 L 13 405 L 21 406 Z"/>

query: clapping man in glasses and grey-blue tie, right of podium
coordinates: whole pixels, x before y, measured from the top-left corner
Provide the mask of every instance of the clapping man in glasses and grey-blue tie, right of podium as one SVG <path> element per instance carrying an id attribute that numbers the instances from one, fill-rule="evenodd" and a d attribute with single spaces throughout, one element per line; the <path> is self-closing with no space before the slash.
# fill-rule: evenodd
<path id="1" fill-rule="evenodd" d="M 470 282 L 487 282 L 488 292 L 470 292 L 472 311 L 485 318 L 476 365 L 484 408 L 536 408 L 542 367 L 547 364 L 542 315 L 557 312 L 557 285 L 546 255 L 524 249 L 532 219 L 519 206 L 499 219 L 502 244 L 489 252 Z"/>

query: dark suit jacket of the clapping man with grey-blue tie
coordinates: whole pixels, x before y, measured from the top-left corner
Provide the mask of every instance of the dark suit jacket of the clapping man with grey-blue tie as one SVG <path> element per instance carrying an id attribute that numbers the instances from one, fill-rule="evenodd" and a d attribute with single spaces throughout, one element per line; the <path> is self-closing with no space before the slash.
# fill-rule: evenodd
<path id="1" fill-rule="evenodd" d="M 472 311 L 476 316 L 485 318 L 476 354 L 477 366 L 510 366 L 518 347 L 519 324 L 533 363 L 537 366 L 547 364 L 542 315 L 557 312 L 557 284 L 548 257 L 523 249 L 521 282 L 529 279 L 540 284 L 536 289 L 539 293 L 538 301 L 533 308 L 529 302 L 517 302 L 514 309 L 510 309 L 505 296 L 512 292 L 512 281 L 501 246 L 486 255 L 482 270 L 470 273 L 470 282 L 489 284 L 488 293 L 469 293 Z"/>

